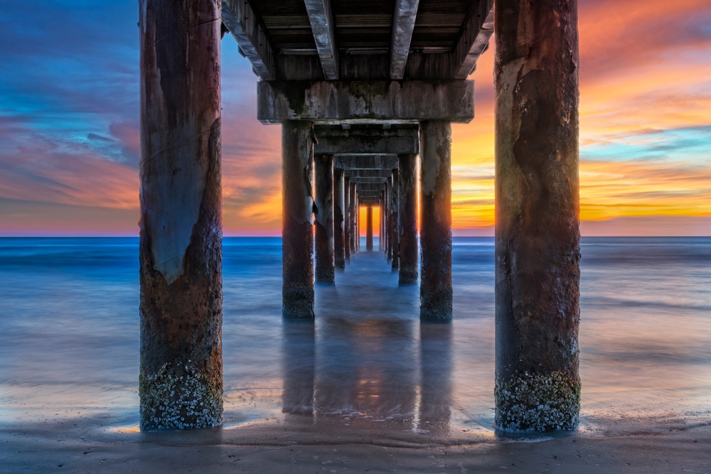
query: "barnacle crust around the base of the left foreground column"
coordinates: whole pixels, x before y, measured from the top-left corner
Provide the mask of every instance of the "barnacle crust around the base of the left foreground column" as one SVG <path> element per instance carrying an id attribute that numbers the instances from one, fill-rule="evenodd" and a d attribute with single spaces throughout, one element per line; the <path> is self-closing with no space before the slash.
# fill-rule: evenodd
<path id="1" fill-rule="evenodd" d="M 163 431 L 219 426 L 223 387 L 196 367 L 163 365 L 154 375 L 139 374 L 141 430 Z"/>

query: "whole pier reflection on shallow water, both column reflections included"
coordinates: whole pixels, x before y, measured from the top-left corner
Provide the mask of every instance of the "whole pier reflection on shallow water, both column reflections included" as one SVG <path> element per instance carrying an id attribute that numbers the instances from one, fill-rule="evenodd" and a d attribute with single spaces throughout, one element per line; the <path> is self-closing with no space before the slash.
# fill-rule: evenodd
<path id="1" fill-rule="evenodd" d="M 283 330 L 287 424 L 448 435 L 450 324 L 334 317 Z"/>

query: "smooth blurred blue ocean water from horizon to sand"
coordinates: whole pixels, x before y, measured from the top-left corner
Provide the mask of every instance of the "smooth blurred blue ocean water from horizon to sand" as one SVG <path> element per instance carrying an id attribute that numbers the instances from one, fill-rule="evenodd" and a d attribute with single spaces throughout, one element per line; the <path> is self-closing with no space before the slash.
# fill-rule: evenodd
<path id="1" fill-rule="evenodd" d="M 225 427 L 493 436 L 493 239 L 454 239 L 449 325 L 420 325 L 417 286 L 377 250 L 316 288 L 313 325 L 284 321 L 281 240 L 223 246 Z M 711 423 L 711 238 L 583 238 L 582 255 L 581 430 Z M 0 425 L 134 429 L 138 307 L 136 238 L 0 239 Z"/>

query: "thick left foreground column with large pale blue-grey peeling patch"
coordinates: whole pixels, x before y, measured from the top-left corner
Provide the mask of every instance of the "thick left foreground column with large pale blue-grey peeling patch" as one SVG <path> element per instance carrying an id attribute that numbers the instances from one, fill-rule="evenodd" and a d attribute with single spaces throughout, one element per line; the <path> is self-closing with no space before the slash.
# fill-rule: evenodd
<path id="1" fill-rule="evenodd" d="M 218 1 L 139 1 L 145 431 L 222 422 L 221 24 Z"/>

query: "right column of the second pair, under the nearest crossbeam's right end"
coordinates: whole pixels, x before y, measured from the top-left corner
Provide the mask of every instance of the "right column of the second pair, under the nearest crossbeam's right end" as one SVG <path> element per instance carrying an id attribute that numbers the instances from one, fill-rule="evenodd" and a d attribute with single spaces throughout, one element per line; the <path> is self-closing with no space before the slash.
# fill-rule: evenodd
<path id="1" fill-rule="evenodd" d="M 419 246 L 419 317 L 451 319 L 451 125 L 419 127 L 422 200 Z"/>

